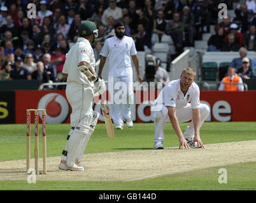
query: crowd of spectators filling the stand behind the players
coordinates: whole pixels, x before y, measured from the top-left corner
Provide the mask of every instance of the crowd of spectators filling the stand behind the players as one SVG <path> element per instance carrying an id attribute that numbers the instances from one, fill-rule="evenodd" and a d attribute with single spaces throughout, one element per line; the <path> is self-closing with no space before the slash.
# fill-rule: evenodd
<path id="1" fill-rule="evenodd" d="M 29 3 L 36 4 L 36 18 L 27 16 Z M 1 0 L 0 80 L 65 81 L 61 74 L 65 56 L 76 42 L 82 20 L 94 21 L 99 29 L 99 39 L 94 45 L 96 60 L 104 40 L 115 34 L 113 27 L 117 21 L 124 22 L 125 35 L 134 39 L 137 51 L 150 53 L 152 37 L 157 36 L 160 41 L 167 34 L 173 39 L 176 53 L 180 53 L 184 46 L 194 46 L 199 34 L 210 32 L 210 25 L 217 25 L 219 3 L 230 5 L 232 1 Z M 256 20 L 254 14 L 253 20 L 246 16 L 255 13 L 256 8 L 250 6 L 247 10 L 241 4 L 236 10 L 238 24 L 224 20 L 216 27 L 217 34 L 210 39 L 213 43 L 209 43 L 213 45 L 211 51 L 225 48 L 220 40 L 229 43 L 231 38 L 239 44 L 232 48 L 227 44 L 225 51 L 238 51 L 241 46 L 255 50 L 252 33 L 255 34 Z M 239 23 L 243 27 L 241 34 L 236 28 Z"/>

